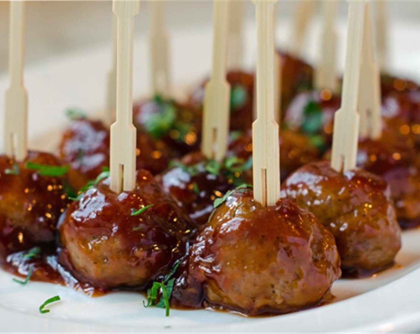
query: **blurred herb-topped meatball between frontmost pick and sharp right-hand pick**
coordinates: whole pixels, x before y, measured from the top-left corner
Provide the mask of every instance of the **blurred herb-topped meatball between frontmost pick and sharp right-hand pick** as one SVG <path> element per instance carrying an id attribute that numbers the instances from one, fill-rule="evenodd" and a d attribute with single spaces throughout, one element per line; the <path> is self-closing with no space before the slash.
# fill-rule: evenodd
<path id="1" fill-rule="evenodd" d="M 294 97 L 284 118 L 285 126 L 311 137 L 322 139 L 331 146 L 334 113 L 340 108 L 341 97 L 328 89 L 321 92 L 303 92 Z"/>

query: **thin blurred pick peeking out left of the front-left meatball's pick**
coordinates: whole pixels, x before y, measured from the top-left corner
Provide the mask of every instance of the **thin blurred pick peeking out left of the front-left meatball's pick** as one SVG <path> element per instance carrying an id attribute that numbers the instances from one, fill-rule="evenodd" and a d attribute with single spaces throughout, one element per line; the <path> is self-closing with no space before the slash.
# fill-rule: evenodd
<path id="1" fill-rule="evenodd" d="M 112 42 L 112 63 L 107 75 L 107 96 L 105 122 L 111 125 L 115 122 L 115 105 L 117 94 L 117 17 L 113 15 L 112 22 L 113 42 Z"/>

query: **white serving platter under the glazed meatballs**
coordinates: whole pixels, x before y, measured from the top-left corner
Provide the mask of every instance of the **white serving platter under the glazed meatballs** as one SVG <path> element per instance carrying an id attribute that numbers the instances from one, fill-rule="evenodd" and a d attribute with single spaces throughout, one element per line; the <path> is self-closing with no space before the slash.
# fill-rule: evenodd
<path id="1" fill-rule="evenodd" d="M 278 40 L 287 39 L 287 22 L 278 27 Z M 340 37 L 344 36 L 340 24 Z M 391 34 L 391 70 L 420 79 L 420 26 L 396 22 Z M 255 38 L 247 26 L 246 63 L 252 64 Z M 314 24 L 307 43 L 308 58 L 316 59 L 319 25 Z M 185 96 L 191 83 L 199 82 L 210 68 L 211 29 L 171 33 L 173 79 Z M 147 95 L 147 39 L 136 39 L 134 95 Z M 339 55 L 342 55 L 342 46 Z M 99 45 L 27 66 L 30 147 L 54 150 L 66 124 L 68 106 L 79 106 L 100 116 L 105 103 L 105 76 L 110 45 Z M 342 58 L 342 57 L 341 57 Z M 0 92 L 7 76 L 0 76 Z M 0 94 L 0 106 L 3 105 Z M 0 109 L 3 119 L 3 108 Z M 1 138 L 0 136 L 0 144 Z M 0 146 L 1 147 L 1 146 Z M 390 332 L 420 329 L 420 229 L 404 231 L 396 265 L 367 279 L 340 279 L 333 285 L 329 305 L 268 318 L 245 318 L 210 310 L 144 308 L 142 295 L 115 292 L 90 298 L 58 285 L 30 282 L 21 286 L 0 270 L 0 332 Z M 62 301 L 51 312 L 40 314 L 39 305 L 53 295 Z"/>

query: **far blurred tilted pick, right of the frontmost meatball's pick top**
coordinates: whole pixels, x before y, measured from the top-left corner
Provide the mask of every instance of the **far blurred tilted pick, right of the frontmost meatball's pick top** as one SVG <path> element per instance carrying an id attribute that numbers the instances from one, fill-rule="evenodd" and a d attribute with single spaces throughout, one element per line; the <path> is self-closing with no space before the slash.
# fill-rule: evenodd
<path id="1" fill-rule="evenodd" d="M 297 4 L 296 14 L 293 18 L 292 34 L 290 38 L 289 53 L 295 57 L 302 56 L 302 46 L 308 25 L 315 12 L 317 1 L 300 1 Z"/>

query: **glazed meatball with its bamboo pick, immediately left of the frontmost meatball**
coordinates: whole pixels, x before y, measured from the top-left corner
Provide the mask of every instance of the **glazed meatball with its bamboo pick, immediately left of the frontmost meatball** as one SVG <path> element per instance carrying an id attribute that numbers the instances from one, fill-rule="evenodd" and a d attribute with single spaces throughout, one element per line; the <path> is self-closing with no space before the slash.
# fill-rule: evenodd
<path id="1" fill-rule="evenodd" d="M 82 193 L 63 216 L 60 262 L 95 287 L 143 289 L 184 255 L 194 226 L 148 171 L 135 171 L 132 47 L 139 1 L 114 0 L 113 10 L 118 17 L 117 117 L 111 127 L 110 177 Z"/>

